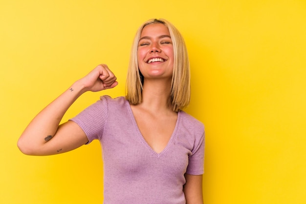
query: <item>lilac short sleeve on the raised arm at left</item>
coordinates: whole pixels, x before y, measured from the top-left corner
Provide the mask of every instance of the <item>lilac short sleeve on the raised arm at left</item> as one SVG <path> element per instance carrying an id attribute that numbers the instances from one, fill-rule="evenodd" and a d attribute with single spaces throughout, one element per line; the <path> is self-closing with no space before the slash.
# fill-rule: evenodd
<path id="1" fill-rule="evenodd" d="M 82 128 L 88 138 L 88 143 L 90 143 L 95 139 L 101 139 L 107 118 L 108 103 L 103 96 L 70 121 L 77 123 Z"/>

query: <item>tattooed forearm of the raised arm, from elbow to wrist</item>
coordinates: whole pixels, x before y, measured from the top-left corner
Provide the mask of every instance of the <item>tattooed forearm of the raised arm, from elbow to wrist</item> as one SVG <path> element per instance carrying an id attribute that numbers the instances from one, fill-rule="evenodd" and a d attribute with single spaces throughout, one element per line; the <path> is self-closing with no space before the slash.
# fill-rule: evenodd
<path id="1" fill-rule="evenodd" d="M 77 81 L 47 105 L 23 131 L 18 141 L 21 151 L 25 154 L 32 154 L 31 152 L 41 148 L 44 143 L 52 139 L 67 109 L 84 92 L 84 86 Z"/>

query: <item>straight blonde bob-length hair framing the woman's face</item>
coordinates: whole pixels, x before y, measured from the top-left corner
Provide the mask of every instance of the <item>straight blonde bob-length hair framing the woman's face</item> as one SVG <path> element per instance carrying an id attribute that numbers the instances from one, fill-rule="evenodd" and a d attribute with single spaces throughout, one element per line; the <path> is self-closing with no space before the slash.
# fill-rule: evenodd
<path id="1" fill-rule="evenodd" d="M 164 24 L 169 29 L 170 37 L 173 42 L 174 67 L 169 100 L 172 109 L 177 112 L 185 108 L 190 102 L 190 66 L 187 48 L 182 35 L 172 23 L 164 19 L 148 20 L 137 30 L 131 48 L 130 64 L 126 82 L 126 99 L 132 105 L 137 105 L 142 102 L 142 86 L 144 79 L 138 67 L 137 49 L 143 28 L 152 23 Z"/>

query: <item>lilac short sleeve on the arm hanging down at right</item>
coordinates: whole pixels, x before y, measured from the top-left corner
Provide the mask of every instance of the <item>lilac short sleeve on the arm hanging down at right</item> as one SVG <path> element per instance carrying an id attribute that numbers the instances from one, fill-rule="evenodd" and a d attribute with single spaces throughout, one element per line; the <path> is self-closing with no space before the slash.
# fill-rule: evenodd
<path id="1" fill-rule="evenodd" d="M 186 173 L 191 175 L 201 175 L 204 173 L 204 149 L 205 149 L 205 131 L 198 133 L 192 155 L 189 156 L 189 162 Z"/>

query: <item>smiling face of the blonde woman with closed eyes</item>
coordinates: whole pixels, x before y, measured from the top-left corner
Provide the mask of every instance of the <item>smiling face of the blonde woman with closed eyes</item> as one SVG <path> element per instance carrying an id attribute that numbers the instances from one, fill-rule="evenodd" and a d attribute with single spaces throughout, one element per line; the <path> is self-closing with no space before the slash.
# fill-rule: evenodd
<path id="1" fill-rule="evenodd" d="M 138 42 L 137 59 L 145 79 L 172 78 L 173 44 L 164 24 L 153 23 L 143 28 Z"/>

